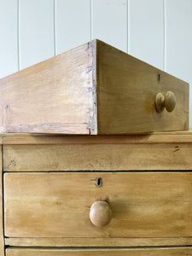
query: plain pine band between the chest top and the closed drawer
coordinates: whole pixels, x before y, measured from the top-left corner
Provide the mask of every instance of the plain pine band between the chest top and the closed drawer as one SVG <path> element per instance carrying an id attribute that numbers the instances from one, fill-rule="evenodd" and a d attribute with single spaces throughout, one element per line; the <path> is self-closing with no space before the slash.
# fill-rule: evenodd
<path id="1" fill-rule="evenodd" d="M 191 155 L 192 143 L 152 144 L 121 141 L 121 143 L 75 144 L 73 141 L 73 144 L 57 145 L 4 145 L 3 170 L 5 172 L 183 171 L 192 170 Z"/>

